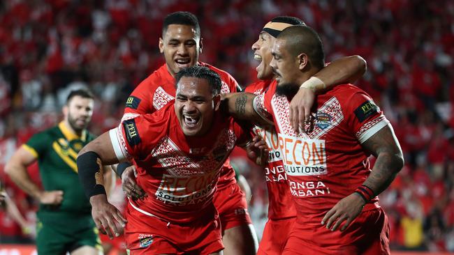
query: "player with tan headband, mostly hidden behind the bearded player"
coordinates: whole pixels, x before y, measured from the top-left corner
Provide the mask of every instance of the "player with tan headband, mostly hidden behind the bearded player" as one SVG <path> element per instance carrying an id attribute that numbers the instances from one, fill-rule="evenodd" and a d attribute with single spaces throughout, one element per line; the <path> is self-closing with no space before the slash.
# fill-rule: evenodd
<path id="1" fill-rule="evenodd" d="M 247 86 L 246 91 L 256 95 L 266 91 L 270 84 L 275 83 L 274 74 L 270 66 L 272 60 L 271 47 L 282 30 L 288 26 L 304 24 L 296 17 L 279 16 L 274 17 L 270 22 L 265 24 L 258 40 L 252 45 L 254 50 L 254 59 L 261 61 L 257 66 L 257 78 L 260 81 Z M 350 56 L 337 59 L 327 67 L 317 72 L 314 79 L 318 83 L 326 84 L 330 87 L 341 82 L 354 82 L 357 77 L 365 72 L 365 61 L 359 56 Z M 324 86 L 319 86 L 323 88 Z M 314 91 L 316 89 L 301 88 L 295 95 L 292 102 L 298 102 L 295 105 L 295 115 L 299 116 L 298 110 L 304 117 L 309 113 L 314 102 Z M 299 107 L 302 107 L 301 109 Z M 305 112 L 306 109 L 306 112 Z M 298 123 L 299 120 L 295 119 Z M 302 118 L 301 121 L 304 122 Z M 298 124 L 297 124 L 298 125 Z M 258 247 L 258 254 L 281 254 L 282 249 L 288 239 L 291 226 L 295 222 L 296 211 L 290 189 L 287 183 L 287 176 L 282 162 L 282 152 L 279 148 L 279 139 L 274 127 L 254 127 L 254 132 L 266 139 L 270 157 L 268 165 L 265 167 L 266 183 L 268 186 L 268 222 L 265 224 L 262 240 Z"/>

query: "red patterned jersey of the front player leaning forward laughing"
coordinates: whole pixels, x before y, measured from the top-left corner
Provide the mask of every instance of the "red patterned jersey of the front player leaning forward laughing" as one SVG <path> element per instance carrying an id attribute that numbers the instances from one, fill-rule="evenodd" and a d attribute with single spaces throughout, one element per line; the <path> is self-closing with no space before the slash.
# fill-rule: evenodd
<path id="1" fill-rule="evenodd" d="M 137 183 L 149 196 L 130 200 L 145 215 L 187 223 L 212 206 L 221 167 L 235 144 L 250 139 L 233 118 L 217 112 L 203 137 L 186 137 L 173 101 L 154 114 L 122 121 L 110 130 L 119 160 L 133 160 Z"/>

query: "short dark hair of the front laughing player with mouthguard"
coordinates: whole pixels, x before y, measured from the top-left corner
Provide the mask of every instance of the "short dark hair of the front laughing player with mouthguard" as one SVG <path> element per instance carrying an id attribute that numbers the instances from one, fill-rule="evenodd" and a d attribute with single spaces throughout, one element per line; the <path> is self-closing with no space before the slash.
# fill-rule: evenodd
<path id="1" fill-rule="evenodd" d="M 218 95 L 219 93 L 221 93 L 221 77 L 219 77 L 217 72 L 214 72 L 210 68 L 206 68 L 202 65 L 194 65 L 190 68 L 184 68 L 180 70 L 180 72 L 178 72 L 175 76 L 176 86 L 178 86 L 178 83 L 180 82 L 180 79 L 182 79 L 182 77 L 196 77 L 200 79 L 206 79 L 208 81 L 208 84 L 210 84 L 211 86 L 211 92 L 213 95 Z"/>

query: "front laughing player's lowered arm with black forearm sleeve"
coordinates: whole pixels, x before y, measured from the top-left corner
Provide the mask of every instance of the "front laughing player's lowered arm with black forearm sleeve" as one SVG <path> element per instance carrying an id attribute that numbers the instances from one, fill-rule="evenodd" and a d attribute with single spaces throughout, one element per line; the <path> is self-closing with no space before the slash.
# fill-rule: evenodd
<path id="1" fill-rule="evenodd" d="M 80 150 L 78 172 L 85 194 L 90 199 L 91 216 L 96 227 L 110 239 L 122 233 L 126 219 L 107 201 L 103 183 L 103 164 L 116 164 L 119 160 L 110 141 L 109 132 L 101 134 Z"/>

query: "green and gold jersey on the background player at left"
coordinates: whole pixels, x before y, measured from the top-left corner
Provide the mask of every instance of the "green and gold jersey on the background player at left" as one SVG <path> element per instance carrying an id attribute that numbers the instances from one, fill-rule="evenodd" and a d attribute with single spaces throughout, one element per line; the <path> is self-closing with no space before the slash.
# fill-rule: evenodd
<path id="1" fill-rule="evenodd" d="M 82 132 L 74 134 L 63 122 L 48 130 L 35 134 L 22 145 L 38 160 L 44 190 L 62 190 L 63 201 L 58 207 L 40 205 L 38 215 L 54 215 L 54 212 L 68 212 L 71 215 L 91 215 L 91 206 L 79 181 L 75 160 L 79 151 L 92 141 L 94 136 Z"/>

